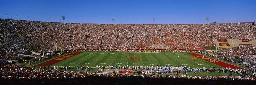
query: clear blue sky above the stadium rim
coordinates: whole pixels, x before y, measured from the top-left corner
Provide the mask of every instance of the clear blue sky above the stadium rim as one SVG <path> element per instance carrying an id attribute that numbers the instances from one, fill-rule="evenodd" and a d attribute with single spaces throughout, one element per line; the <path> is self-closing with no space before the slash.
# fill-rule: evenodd
<path id="1" fill-rule="evenodd" d="M 65 15 L 64 22 L 74 23 L 112 23 L 114 17 L 114 23 L 123 24 L 193 24 L 207 23 L 205 17 L 209 17 L 209 23 L 253 22 L 255 3 L 256 0 L 0 0 L 0 18 L 60 22 Z"/>

